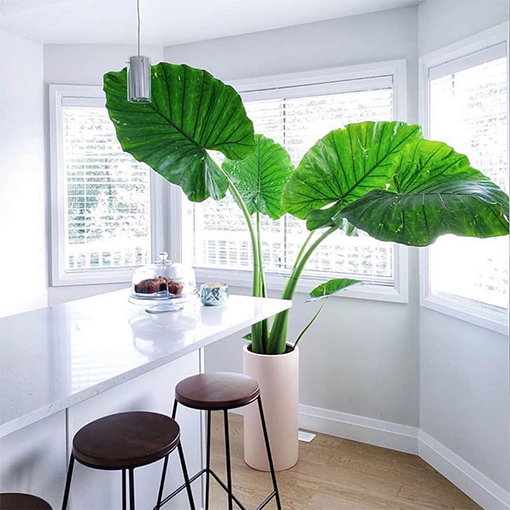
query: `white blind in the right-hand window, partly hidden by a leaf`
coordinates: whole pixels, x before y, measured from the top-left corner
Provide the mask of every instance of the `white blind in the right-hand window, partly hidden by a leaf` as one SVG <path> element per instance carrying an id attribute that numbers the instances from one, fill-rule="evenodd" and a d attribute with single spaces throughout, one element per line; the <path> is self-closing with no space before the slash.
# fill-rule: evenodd
<path id="1" fill-rule="evenodd" d="M 449 62 L 450 69 L 445 67 L 441 73 L 431 70 L 430 137 L 466 154 L 474 168 L 508 192 L 506 47 L 474 55 L 483 61 L 464 57 L 456 72 L 449 72 L 455 62 Z M 508 260 L 508 239 L 504 237 L 440 238 L 429 251 L 430 292 L 506 309 Z"/>

